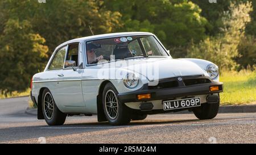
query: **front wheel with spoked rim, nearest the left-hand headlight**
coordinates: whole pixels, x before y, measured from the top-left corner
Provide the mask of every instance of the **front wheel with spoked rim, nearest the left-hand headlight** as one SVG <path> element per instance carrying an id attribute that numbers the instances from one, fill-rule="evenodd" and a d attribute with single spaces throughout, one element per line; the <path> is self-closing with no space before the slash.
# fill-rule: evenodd
<path id="1" fill-rule="evenodd" d="M 119 101 L 117 94 L 112 83 L 107 83 L 102 93 L 102 106 L 110 124 L 125 125 L 131 121 L 129 109 Z"/>

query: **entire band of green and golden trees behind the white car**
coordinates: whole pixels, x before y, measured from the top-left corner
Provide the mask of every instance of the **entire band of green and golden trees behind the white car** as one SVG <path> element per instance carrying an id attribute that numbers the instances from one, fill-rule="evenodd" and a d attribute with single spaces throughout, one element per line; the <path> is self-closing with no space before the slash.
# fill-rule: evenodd
<path id="1" fill-rule="evenodd" d="M 174 58 L 204 58 L 220 68 L 253 66 L 256 11 L 251 5 L 255 8 L 256 0 L 1 0 L 0 90 L 27 89 L 55 47 L 92 35 L 89 26 L 96 35 L 153 32 Z"/>

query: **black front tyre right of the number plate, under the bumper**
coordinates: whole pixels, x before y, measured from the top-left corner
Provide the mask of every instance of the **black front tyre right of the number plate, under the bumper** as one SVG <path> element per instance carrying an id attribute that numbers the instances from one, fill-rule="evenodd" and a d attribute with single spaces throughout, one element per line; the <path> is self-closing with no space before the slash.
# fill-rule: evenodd
<path id="1" fill-rule="evenodd" d="M 195 108 L 193 112 L 201 120 L 213 119 L 218 114 L 218 107 L 220 107 L 220 102 L 204 103 L 200 107 Z"/>

